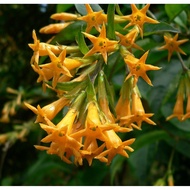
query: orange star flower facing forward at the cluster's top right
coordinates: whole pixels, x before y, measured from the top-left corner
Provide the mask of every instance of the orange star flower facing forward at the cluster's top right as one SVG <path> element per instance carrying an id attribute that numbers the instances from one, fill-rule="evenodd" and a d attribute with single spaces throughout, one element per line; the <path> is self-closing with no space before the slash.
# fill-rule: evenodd
<path id="1" fill-rule="evenodd" d="M 147 4 L 144 6 L 141 10 L 137 9 L 136 5 L 132 4 L 131 9 L 132 9 L 132 14 L 127 15 L 127 16 L 122 16 L 123 19 L 129 20 L 130 22 L 125 26 L 125 28 L 128 28 L 129 26 L 137 26 L 141 38 L 143 38 L 143 25 L 145 22 L 148 23 L 159 23 L 157 20 L 154 20 L 150 17 L 146 16 L 146 12 L 149 9 L 150 4 Z"/>

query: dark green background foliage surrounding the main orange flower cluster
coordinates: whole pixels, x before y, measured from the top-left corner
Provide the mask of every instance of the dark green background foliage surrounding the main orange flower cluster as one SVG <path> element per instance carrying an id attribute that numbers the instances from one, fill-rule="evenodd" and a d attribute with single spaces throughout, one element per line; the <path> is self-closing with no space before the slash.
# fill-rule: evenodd
<path id="1" fill-rule="evenodd" d="M 138 9 L 144 7 L 136 6 Z M 123 35 L 132 29 L 133 26 L 124 29 L 128 21 L 114 23 L 114 13 L 119 16 L 131 14 L 130 5 L 100 4 L 91 7 L 94 11 L 104 10 L 104 13 L 109 15 L 106 30 L 111 41 L 118 39 L 113 29 Z M 41 152 L 33 146 L 39 145 L 46 133 L 39 124 L 34 123 L 36 118 L 24 102 L 43 107 L 57 100 L 59 90 L 69 92 L 66 97 L 72 99 L 76 94 L 79 95 L 80 89 L 89 85 L 89 81 L 60 82 L 55 85 L 54 91 L 46 88 L 44 92 L 41 83 L 36 83 L 38 76 L 30 66 L 32 51 L 28 44 L 33 43 L 31 35 L 33 29 L 37 31 L 36 35 L 40 42 L 47 42 L 52 37 L 51 34 L 42 35 L 38 31 L 44 25 L 59 23 L 50 19 L 55 12 L 80 15 L 87 13 L 82 4 L 0 5 L 1 185 L 172 185 L 173 181 L 174 185 L 189 185 L 190 121 L 189 118 L 183 120 L 183 116 L 181 120 L 167 118 L 174 111 L 179 95 L 179 82 L 184 80 L 185 85 L 189 84 L 189 75 L 186 73 L 190 66 L 190 41 L 180 44 L 185 54 L 176 51 L 172 53 L 169 61 L 168 51 L 159 50 L 164 46 L 164 36 L 174 37 L 178 33 L 178 40 L 189 39 L 189 5 L 150 5 L 147 16 L 158 20 L 159 23 L 144 24 L 143 38 L 139 35 L 135 41 L 144 51 L 140 49 L 132 51 L 136 59 L 140 59 L 149 51 L 146 63 L 161 68 L 148 72 L 153 86 L 148 85 L 141 77 L 137 82 L 144 109 L 146 113 L 154 113 L 151 120 L 156 125 L 151 126 L 143 122 L 140 126 L 142 130 L 134 128 L 130 133 L 118 133 L 123 141 L 136 139 L 130 145 L 134 152 L 129 153 L 129 158 L 116 155 L 110 165 L 94 159 L 91 166 L 85 159 L 83 165 L 67 164 L 56 155 Z M 26 17 L 28 19 L 25 20 Z M 79 55 L 83 57 L 92 48 L 85 28 L 86 23 L 77 20 L 55 34 L 50 43 L 69 46 L 76 42 L 73 46 L 76 44 L 79 46 L 81 51 Z M 98 36 L 99 32 L 93 28 L 91 35 Z M 78 52 L 73 54 L 75 53 L 78 55 Z M 40 64 L 47 61 L 50 61 L 47 56 L 40 58 Z M 102 80 L 106 81 L 106 92 L 109 92 L 107 99 L 113 113 L 120 97 L 121 86 L 127 77 L 125 61 L 119 51 L 115 51 L 107 57 L 105 65 L 106 77 Z M 85 72 L 82 69 L 78 69 L 77 72 L 81 71 L 87 75 L 94 71 L 94 67 L 88 64 L 85 66 L 88 68 Z M 94 76 L 92 73 L 91 79 Z M 95 85 L 98 84 L 96 82 Z M 48 81 L 45 85 L 54 87 L 53 81 Z M 87 91 L 90 94 L 88 98 L 93 99 L 94 91 L 90 85 Z M 186 108 L 188 91 L 188 87 L 183 91 L 186 94 L 184 114 L 188 111 Z M 66 112 L 67 108 L 64 108 L 53 122 L 59 123 Z"/>

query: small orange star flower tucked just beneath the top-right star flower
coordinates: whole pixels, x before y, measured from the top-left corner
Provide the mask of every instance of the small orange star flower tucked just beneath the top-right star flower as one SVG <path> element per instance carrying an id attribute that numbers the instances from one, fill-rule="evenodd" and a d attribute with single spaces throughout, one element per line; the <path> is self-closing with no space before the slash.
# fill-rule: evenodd
<path id="1" fill-rule="evenodd" d="M 125 46 L 130 52 L 131 48 L 143 50 L 140 46 L 135 44 L 136 37 L 138 35 L 138 31 L 136 28 L 132 29 L 126 35 L 122 35 L 119 32 L 116 32 L 116 35 L 120 38 L 120 44 Z"/>

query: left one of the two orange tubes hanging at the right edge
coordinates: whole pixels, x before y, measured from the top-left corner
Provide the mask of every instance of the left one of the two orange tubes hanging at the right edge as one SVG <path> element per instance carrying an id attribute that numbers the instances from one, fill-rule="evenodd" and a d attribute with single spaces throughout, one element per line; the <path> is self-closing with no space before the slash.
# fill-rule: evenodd
<path id="1" fill-rule="evenodd" d="M 166 118 L 166 120 L 170 120 L 174 117 L 177 117 L 177 119 L 179 121 L 183 121 L 184 120 L 184 115 L 183 115 L 183 94 L 179 94 L 177 96 L 177 100 L 176 100 L 176 103 L 175 103 L 175 106 L 174 106 L 174 109 L 173 109 L 173 114 L 168 116 Z"/>

